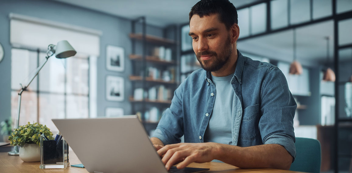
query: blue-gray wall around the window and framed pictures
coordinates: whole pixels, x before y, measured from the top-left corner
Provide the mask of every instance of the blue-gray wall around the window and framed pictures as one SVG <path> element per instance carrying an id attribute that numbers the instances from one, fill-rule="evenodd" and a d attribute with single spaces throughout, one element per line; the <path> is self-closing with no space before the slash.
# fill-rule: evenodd
<path id="1" fill-rule="evenodd" d="M 30 17 L 48 19 L 67 24 L 87 27 L 102 31 L 100 37 L 100 56 L 97 62 L 97 115 L 105 115 L 106 107 L 122 107 L 125 114 L 130 114 L 131 104 L 131 20 L 111 16 L 109 14 L 88 10 L 81 7 L 48 0 L 0 0 L 0 43 L 4 47 L 5 56 L 0 62 L 0 122 L 11 116 L 11 44 L 9 13 L 17 13 Z M 163 30 L 155 26 L 147 26 L 147 34 L 162 37 Z M 54 43 L 55 44 L 55 43 Z M 125 71 L 122 73 L 106 70 L 105 51 L 107 45 L 120 46 L 125 49 Z M 125 78 L 125 100 L 123 102 L 107 101 L 105 98 L 105 79 L 107 75 Z M 0 141 L 2 138 L 0 137 Z"/>

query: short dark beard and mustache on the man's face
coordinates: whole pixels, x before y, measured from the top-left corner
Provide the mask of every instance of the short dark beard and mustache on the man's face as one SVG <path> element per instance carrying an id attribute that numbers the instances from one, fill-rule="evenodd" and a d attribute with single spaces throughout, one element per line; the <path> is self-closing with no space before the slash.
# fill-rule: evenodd
<path id="1" fill-rule="evenodd" d="M 215 51 L 205 50 L 196 53 L 197 60 L 201 64 L 202 68 L 208 72 L 215 72 L 220 70 L 228 62 L 232 55 L 232 45 L 230 36 L 227 37 L 224 48 L 219 51 L 220 56 Z M 202 55 L 213 55 L 214 57 L 210 60 L 201 60 Z M 213 62 L 212 62 L 213 61 Z"/>

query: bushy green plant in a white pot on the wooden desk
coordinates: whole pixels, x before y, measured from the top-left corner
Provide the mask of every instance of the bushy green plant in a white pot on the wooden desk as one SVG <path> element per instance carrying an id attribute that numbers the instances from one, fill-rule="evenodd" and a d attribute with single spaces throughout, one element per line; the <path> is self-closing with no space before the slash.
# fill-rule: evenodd
<path id="1" fill-rule="evenodd" d="M 46 125 L 39 123 L 19 126 L 14 129 L 11 136 L 8 137 L 11 146 L 20 146 L 19 156 L 24 162 L 39 162 L 40 161 L 40 132 L 46 136 L 51 136 L 52 132 Z"/>

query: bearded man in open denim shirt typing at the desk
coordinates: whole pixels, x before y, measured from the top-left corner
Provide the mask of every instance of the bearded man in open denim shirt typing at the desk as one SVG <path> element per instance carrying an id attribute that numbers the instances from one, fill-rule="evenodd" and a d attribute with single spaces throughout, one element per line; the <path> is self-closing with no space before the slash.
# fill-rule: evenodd
<path id="1" fill-rule="evenodd" d="M 203 69 L 176 89 L 150 139 L 165 168 L 216 159 L 240 168 L 289 169 L 297 105 L 285 76 L 237 50 L 237 11 L 228 0 L 201 0 L 189 19 Z M 182 135 L 187 143 L 180 143 Z"/>

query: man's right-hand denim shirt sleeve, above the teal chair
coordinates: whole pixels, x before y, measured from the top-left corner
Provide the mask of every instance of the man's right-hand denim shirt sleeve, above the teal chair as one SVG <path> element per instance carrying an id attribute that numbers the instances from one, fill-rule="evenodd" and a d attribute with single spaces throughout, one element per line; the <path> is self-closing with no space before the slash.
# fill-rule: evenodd
<path id="1" fill-rule="evenodd" d="M 297 104 L 284 74 L 277 67 L 266 75 L 261 89 L 259 130 L 264 144 L 279 144 L 296 157 L 293 118 Z"/>

